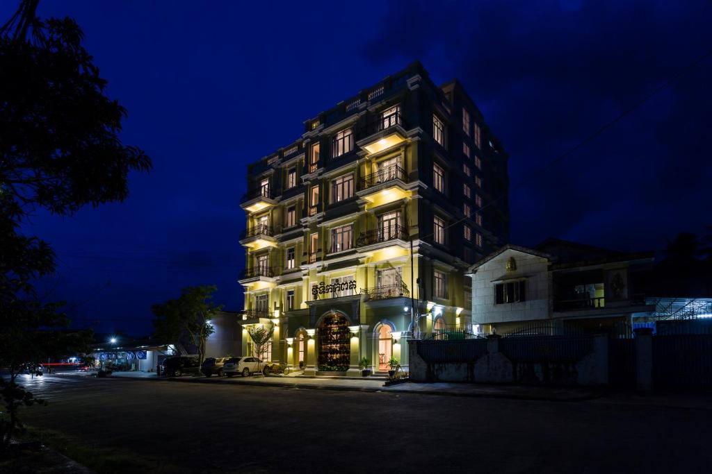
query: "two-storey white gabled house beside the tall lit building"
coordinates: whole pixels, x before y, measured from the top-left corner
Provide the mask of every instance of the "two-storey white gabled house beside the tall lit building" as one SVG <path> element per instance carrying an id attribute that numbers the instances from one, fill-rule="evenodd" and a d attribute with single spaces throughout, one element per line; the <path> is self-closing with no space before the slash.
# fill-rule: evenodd
<path id="1" fill-rule="evenodd" d="M 508 244 L 470 267 L 472 323 L 481 333 L 533 325 L 611 331 L 649 316 L 637 274 L 652 252 L 623 253 L 548 239 L 535 249 Z M 479 325 L 479 327 L 477 326 Z"/>

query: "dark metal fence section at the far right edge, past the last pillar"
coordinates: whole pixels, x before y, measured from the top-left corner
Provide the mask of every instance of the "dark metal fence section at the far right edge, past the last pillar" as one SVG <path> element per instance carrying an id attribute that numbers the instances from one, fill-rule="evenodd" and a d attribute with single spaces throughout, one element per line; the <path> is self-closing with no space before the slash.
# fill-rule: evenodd
<path id="1" fill-rule="evenodd" d="M 712 334 L 653 336 L 653 386 L 712 389 Z"/>

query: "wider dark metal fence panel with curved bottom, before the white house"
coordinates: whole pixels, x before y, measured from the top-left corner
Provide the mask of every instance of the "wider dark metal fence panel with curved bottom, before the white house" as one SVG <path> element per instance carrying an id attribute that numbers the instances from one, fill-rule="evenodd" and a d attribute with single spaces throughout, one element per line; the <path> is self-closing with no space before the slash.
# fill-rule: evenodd
<path id="1" fill-rule="evenodd" d="M 512 362 L 577 362 L 593 350 L 592 336 L 502 338 L 499 351 Z"/>

